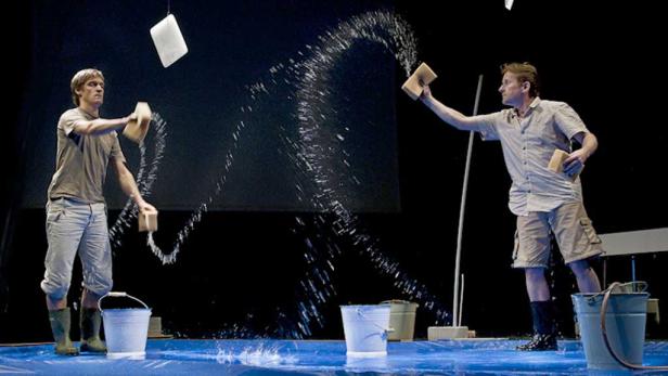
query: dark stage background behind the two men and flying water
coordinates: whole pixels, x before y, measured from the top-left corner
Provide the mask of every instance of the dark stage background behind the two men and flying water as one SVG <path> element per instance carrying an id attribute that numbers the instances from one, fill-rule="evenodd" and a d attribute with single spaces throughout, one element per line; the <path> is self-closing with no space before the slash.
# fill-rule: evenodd
<path id="1" fill-rule="evenodd" d="M 94 65 L 105 73 L 105 116 L 125 115 L 143 99 L 138 96 L 146 95 L 167 120 L 168 147 L 149 200 L 160 209 L 156 243 L 170 245 L 213 191 L 221 164 L 217 153 L 229 147 L 244 86 L 264 79 L 274 64 L 298 59 L 297 51 L 317 43 L 338 21 L 369 10 L 395 10 L 413 27 L 418 60 L 439 75 L 432 86 L 435 96 L 467 114 L 478 75 L 485 77 L 479 112 L 493 112 L 501 108 L 499 66 L 535 63 L 541 96 L 568 102 L 599 138 L 599 151 L 582 174 L 596 230 L 668 226 L 668 130 L 661 115 L 667 62 L 658 52 L 664 44 L 658 5 L 515 2 L 511 12 L 500 0 L 447 2 L 438 11 L 426 2 L 172 2 L 190 52 L 167 69 L 149 37 L 149 28 L 164 17 L 165 4 L 21 4 L 11 31 L 15 59 L 8 73 L 14 95 L 7 101 L 10 118 L 1 138 L 0 341 L 50 339 L 39 289 L 47 250 L 41 206 L 53 172 L 53 128 L 70 107 L 68 80 L 77 69 Z M 468 135 L 398 90 L 404 79 L 401 67 L 374 49 L 355 50 L 342 67 L 349 72 L 339 73 L 360 81 L 357 92 L 346 87 L 346 111 L 359 116 L 349 121 L 376 126 L 356 133 L 361 146 L 352 168 L 362 184 L 350 193 L 349 208 L 377 239 L 378 249 L 450 309 Z M 369 99 L 377 111 L 364 109 Z M 115 290 L 142 298 L 177 336 L 224 336 L 221 330 L 235 323 L 245 333 L 262 335 L 275 324 L 278 311 L 294 313 L 300 299 L 299 283 L 308 269 L 305 238 L 322 230 L 295 231 L 295 217 L 310 222 L 318 213 L 294 199 L 273 133 L 251 133 L 248 142 L 240 144 L 228 191 L 204 215 L 176 264 L 162 265 L 145 246 L 145 236 L 133 231 L 115 250 Z M 124 151 L 130 165 L 137 164 L 132 144 L 124 141 Z M 499 144 L 476 138 L 463 238 L 463 324 L 481 336 L 530 330 L 524 276 L 510 268 L 514 218 L 506 207 L 509 187 Z M 123 198 L 111 172 L 107 191 L 114 220 Z M 313 325 L 310 338 L 343 338 L 338 304 L 411 298 L 354 245 L 342 241 L 338 246 L 342 256 L 332 273 L 336 295 L 320 308 L 324 325 Z M 667 257 L 637 258 L 638 276 L 650 283 L 664 312 L 668 293 L 660 286 L 668 283 Z M 555 262 L 551 277 L 561 328 L 568 336 L 568 294 L 575 280 L 558 257 Z M 613 258 L 607 273 L 608 282 L 630 280 L 630 260 Z M 79 283 L 77 269 L 70 301 L 80 294 Z M 421 308 L 416 335 L 425 337 L 434 320 L 433 312 Z M 650 325 L 651 337 L 667 337 L 665 323 Z"/>

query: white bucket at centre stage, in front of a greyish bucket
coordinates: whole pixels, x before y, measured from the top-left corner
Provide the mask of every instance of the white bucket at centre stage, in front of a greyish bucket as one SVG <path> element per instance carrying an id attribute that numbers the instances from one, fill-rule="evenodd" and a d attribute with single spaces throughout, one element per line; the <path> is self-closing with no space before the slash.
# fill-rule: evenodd
<path id="1" fill-rule="evenodd" d="M 347 355 L 387 355 L 389 310 L 389 304 L 341 306 Z"/>

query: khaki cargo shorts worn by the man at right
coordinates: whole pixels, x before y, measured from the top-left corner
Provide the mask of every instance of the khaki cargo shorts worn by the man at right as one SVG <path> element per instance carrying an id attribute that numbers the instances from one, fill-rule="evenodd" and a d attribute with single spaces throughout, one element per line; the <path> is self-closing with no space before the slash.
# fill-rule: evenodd
<path id="1" fill-rule="evenodd" d="M 566 203 L 549 212 L 517 216 L 513 268 L 548 268 L 550 232 L 554 233 L 565 263 L 603 252 L 582 203 Z"/>

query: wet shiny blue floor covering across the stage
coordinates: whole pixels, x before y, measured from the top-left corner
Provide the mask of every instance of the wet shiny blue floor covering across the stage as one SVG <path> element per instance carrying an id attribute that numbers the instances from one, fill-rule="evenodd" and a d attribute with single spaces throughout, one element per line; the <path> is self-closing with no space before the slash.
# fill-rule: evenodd
<path id="1" fill-rule="evenodd" d="M 343 340 L 149 340 L 146 359 L 57 356 L 53 345 L 0 347 L 0 374 L 49 375 L 611 375 L 587 369 L 582 347 L 561 340 L 557 351 L 521 352 L 518 340 L 389 342 L 387 356 L 346 356 Z M 668 342 L 645 342 L 645 365 L 668 364 Z M 666 372 L 665 372 L 666 373 Z M 657 374 L 635 372 L 634 374 Z"/>

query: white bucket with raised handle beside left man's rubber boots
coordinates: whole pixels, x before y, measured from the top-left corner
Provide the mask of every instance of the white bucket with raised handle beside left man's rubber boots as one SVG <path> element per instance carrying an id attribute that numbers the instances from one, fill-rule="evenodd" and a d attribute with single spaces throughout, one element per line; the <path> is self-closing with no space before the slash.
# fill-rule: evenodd
<path id="1" fill-rule="evenodd" d="M 127 297 L 142 303 L 145 308 L 125 308 L 102 310 L 102 299 L 106 297 Z M 143 301 L 126 293 L 108 293 L 98 301 L 104 322 L 107 359 L 143 360 L 146 358 L 146 338 L 151 309 Z"/>

